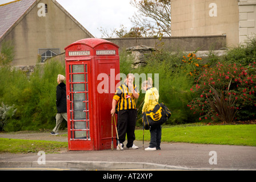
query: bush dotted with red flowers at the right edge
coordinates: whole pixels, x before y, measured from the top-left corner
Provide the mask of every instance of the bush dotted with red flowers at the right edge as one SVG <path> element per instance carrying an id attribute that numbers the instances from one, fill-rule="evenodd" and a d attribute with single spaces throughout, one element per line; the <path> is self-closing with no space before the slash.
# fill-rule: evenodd
<path id="1" fill-rule="evenodd" d="M 200 119 L 217 119 L 218 114 L 210 107 L 210 99 L 215 105 L 215 92 L 211 86 L 225 96 L 225 101 L 232 96 L 235 100 L 234 109 L 238 110 L 236 120 L 255 118 L 256 114 L 256 72 L 255 62 L 248 67 L 241 64 L 218 63 L 216 67 L 202 71 L 194 86 L 190 89 L 196 97 L 187 106 L 194 113 L 201 115 Z M 227 94 L 225 94 L 227 93 Z M 212 114 L 214 113 L 214 114 Z"/>

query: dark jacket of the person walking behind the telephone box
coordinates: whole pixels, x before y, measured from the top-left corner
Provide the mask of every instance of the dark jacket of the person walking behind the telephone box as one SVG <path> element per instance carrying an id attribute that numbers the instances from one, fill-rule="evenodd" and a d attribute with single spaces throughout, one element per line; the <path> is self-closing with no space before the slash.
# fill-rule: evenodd
<path id="1" fill-rule="evenodd" d="M 58 113 L 67 112 L 66 85 L 63 82 L 56 88 L 56 106 Z"/>

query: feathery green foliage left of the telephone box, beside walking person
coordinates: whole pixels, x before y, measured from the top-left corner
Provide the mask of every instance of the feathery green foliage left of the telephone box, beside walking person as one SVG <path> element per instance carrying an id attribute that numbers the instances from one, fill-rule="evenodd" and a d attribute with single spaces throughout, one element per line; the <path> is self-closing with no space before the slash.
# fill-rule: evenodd
<path id="1" fill-rule="evenodd" d="M 21 71 L 0 68 L 0 101 L 15 104 L 17 112 L 5 125 L 5 131 L 52 129 L 55 126 L 58 74 L 65 75 L 65 65 L 51 61 L 37 65 L 28 78 Z"/>

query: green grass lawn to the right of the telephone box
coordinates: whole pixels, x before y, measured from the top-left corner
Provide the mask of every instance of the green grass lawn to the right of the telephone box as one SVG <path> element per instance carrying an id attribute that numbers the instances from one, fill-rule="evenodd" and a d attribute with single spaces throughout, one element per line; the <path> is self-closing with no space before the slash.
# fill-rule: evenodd
<path id="1" fill-rule="evenodd" d="M 145 140 L 150 140 L 150 131 L 145 130 L 144 133 Z M 136 130 L 135 136 L 142 140 L 143 130 Z M 256 125 L 163 127 L 162 142 L 256 146 Z"/>

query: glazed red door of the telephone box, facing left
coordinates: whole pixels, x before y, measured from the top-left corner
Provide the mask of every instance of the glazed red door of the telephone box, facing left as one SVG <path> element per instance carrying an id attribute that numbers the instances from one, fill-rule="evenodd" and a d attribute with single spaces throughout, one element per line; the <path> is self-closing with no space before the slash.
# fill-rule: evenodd
<path id="1" fill-rule="evenodd" d="M 69 79 L 66 85 L 69 150 L 94 150 L 90 125 L 90 60 L 67 63 L 66 77 Z"/>

